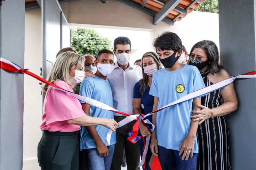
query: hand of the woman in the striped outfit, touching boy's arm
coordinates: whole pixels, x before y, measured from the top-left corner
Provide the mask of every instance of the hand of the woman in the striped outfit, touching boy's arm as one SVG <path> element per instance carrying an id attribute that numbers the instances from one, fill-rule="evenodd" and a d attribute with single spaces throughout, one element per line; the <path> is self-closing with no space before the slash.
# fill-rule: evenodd
<path id="1" fill-rule="evenodd" d="M 208 107 L 205 107 L 203 105 L 197 105 L 198 107 L 202 108 L 202 110 L 193 110 L 193 113 L 196 113 L 198 115 L 190 116 L 191 118 L 194 118 L 194 121 L 200 121 L 198 124 L 201 124 L 204 122 L 204 120 L 209 119 L 212 117 L 212 111 Z"/>

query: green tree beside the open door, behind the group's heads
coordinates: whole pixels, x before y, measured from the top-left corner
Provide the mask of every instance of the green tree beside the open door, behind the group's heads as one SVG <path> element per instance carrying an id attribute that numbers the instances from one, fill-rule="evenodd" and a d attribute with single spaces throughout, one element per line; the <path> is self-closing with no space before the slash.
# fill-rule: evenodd
<path id="1" fill-rule="evenodd" d="M 72 28 L 71 47 L 78 54 L 96 55 L 102 49 L 113 50 L 112 43 L 107 37 L 102 37 L 97 31 L 90 28 Z"/>

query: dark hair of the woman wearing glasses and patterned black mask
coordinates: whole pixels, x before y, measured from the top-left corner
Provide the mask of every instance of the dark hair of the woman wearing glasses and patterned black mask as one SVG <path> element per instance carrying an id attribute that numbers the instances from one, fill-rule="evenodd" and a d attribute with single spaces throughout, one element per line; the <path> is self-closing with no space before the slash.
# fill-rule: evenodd
<path id="1" fill-rule="evenodd" d="M 212 75 L 220 72 L 224 67 L 220 64 L 220 54 L 216 44 L 213 41 L 203 40 L 197 42 L 190 51 L 189 58 L 195 48 L 202 48 L 209 60 L 209 70 Z M 191 65 L 191 61 L 188 60 L 188 64 Z"/>

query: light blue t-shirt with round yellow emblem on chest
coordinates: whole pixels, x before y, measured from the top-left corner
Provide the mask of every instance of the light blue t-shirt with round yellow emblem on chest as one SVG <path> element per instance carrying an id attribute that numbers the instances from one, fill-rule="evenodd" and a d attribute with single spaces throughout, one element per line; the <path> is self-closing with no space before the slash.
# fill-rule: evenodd
<path id="1" fill-rule="evenodd" d="M 185 64 L 179 70 L 166 71 L 165 68 L 153 74 L 149 94 L 159 98 L 161 108 L 182 96 L 205 87 L 199 70 Z M 158 145 L 179 151 L 181 141 L 188 135 L 193 108 L 193 100 L 184 101 L 157 112 L 156 138 Z M 198 153 L 195 138 L 194 153 Z"/>

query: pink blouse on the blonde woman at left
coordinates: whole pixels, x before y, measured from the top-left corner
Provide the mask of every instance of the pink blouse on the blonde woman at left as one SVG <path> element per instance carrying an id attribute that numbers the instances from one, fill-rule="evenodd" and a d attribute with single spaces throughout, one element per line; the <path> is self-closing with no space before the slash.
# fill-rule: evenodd
<path id="1" fill-rule="evenodd" d="M 64 81 L 56 81 L 54 84 L 73 92 L 71 86 Z M 50 132 L 74 132 L 80 126 L 69 124 L 67 120 L 85 115 L 78 99 L 49 86 L 44 99 L 43 122 L 40 128 Z"/>

